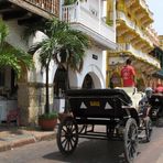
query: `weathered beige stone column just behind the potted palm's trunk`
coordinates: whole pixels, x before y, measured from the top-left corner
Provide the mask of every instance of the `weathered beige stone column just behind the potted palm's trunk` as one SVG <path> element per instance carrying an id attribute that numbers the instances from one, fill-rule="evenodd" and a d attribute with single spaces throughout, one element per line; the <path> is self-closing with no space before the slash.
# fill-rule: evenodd
<path id="1" fill-rule="evenodd" d="M 19 84 L 18 106 L 21 109 L 21 124 L 35 126 L 37 117 L 44 113 L 45 84 Z M 53 85 L 50 85 L 50 108 L 53 108 Z"/>

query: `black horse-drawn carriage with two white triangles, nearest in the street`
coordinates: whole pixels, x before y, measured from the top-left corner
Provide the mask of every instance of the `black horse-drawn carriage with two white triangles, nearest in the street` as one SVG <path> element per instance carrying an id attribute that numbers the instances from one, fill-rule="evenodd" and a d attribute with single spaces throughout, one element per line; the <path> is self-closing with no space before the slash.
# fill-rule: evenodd
<path id="1" fill-rule="evenodd" d="M 139 129 L 145 130 L 150 140 L 150 121 L 145 118 L 143 127 L 132 100 L 122 89 L 73 89 L 67 91 L 69 116 L 64 118 L 57 131 L 59 151 L 68 155 L 74 152 L 78 138 L 85 135 L 122 139 L 124 156 L 132 162 L 137 155 Z M 95 133 L 94 127 L 102 124 L 106 132 Z"/>

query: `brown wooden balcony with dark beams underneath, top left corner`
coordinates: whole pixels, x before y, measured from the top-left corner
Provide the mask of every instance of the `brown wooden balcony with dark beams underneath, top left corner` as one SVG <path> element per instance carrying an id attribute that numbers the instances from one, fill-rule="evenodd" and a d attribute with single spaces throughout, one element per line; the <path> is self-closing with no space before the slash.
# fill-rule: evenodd
<path id="1" fill-rule="evenodd" d="M 59 0 L 1 0 L 0 14 L 6 21 L 31 15 L 51 19 L 59 15 Z"/>

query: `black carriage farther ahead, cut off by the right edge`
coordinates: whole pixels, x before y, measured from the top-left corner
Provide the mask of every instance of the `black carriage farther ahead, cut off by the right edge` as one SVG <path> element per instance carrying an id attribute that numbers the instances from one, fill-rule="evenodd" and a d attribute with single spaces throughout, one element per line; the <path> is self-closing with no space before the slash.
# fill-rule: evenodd
<path id="1" fill-rule="evenodd" d="M 151 112 L 150 117 L 156 124 L 163 119 L 163 94 L 153 94 L 150 98 Z"/>

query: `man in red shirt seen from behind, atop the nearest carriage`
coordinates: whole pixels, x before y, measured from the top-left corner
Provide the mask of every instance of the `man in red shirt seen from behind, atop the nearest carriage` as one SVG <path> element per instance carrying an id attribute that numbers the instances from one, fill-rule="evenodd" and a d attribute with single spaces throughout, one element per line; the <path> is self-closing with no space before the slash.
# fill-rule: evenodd
<path id="1" fill-rule="evenodd" d="M 128 58 L 126 65 L 121 69 L 123 87 L 135 87 L 135 70 L 131 63 L 131 58 Z"/>

